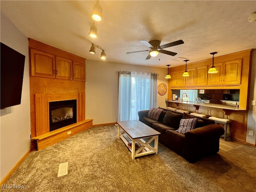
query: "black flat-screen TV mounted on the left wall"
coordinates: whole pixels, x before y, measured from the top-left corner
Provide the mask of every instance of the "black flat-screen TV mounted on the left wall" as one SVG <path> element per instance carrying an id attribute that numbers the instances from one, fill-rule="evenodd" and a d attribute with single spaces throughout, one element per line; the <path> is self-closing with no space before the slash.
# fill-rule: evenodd
<path id="1" fill-rule="evenodd" d="M 1 42 L 1 109 L 21 102 L 25 56 Z"/>

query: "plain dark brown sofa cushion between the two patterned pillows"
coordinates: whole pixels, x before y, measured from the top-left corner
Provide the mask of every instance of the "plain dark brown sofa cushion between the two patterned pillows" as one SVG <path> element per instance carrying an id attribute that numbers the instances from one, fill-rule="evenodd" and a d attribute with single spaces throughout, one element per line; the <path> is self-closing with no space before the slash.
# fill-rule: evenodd
<path id="1" fill-rule="evenodd" d="M 172 111 L 167 111 L 163 119 L 163 124 L 169 127 L 178 129 L 180 126 L 181 118 L 182 118 L 182 114 L 174 113 Z"/>

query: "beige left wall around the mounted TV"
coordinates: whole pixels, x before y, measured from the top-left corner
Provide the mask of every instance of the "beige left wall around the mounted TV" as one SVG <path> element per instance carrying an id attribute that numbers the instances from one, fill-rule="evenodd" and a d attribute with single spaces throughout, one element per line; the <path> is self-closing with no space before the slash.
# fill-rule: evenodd
<path id="1" fill-rule="evenodd" d="M 30 150 L 28 38 L 1 13 L 2 43 L 25 55 L 21 104 L 0 110 L 0 179 Z"/>

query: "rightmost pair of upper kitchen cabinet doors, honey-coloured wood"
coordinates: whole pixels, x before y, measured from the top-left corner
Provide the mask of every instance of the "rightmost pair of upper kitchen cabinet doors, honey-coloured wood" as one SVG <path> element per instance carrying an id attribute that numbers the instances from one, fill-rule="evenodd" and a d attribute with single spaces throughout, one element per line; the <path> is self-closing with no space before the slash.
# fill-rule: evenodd
<path id="1" fill-rule="evenodd" d="M 241 84 L 242 59 L 217 63 L 214 66 L 218 73 L 208 74 L 208 85 Z"/>

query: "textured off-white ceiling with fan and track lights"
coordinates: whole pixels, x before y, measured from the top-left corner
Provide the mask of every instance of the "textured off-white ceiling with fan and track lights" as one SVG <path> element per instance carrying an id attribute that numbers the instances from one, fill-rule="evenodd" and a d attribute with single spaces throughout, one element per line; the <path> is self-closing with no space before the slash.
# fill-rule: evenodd
<path id="1" fill-rule="evenodd" d="M 4 1 L 1 13 L 28 38 L 82 56 L 101 60 L 101 50 L 90 54 L 91 43 L 106 52 L 106 61 L 170 67 L 184 64 L 174 58 L 196 62 L 256 48 L 256 22 L 248 16 L 256 11 L 256 1 L 100 1 L 103 19 L 95 22 L 98 38 L 88 32 L 93 23 L 93 1 Z M 160 40 L 161 45 L 182 39 L 184 44 L 165 48 L 176 56 L 159 54 L 145 60 L 148 52 L 139 40 Z"/>

